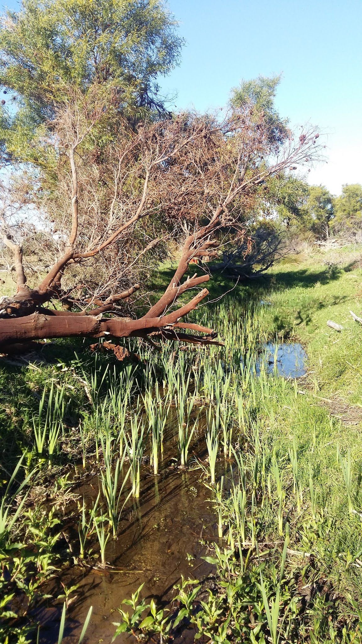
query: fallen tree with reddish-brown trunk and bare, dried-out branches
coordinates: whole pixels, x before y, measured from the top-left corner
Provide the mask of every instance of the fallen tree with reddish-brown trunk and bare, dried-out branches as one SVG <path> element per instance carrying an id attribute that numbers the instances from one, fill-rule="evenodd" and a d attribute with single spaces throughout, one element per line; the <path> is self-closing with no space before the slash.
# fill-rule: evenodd
<path id="1" fill-rule="evenodd" d="M 86 185 L 86 167 L 79 171 L 84 161 L 79 161 L 82 155 L 76 152 L 103 115 L 104 106 L 94 96 L 91 100 L 88 97 L 82 113 L 71 101 L 59 111 L 53 137 L 56 135 L 68 156 L 70 172 L 64 176 L 69 183 L 62 200 L 68 193 L 69 214 L 63 213 L 62 218 L 62 254 L 35 287 L 26 283 L 23 248 L 15 227 L 7 225 L 3 213 L 3 242 L 13 254 L 17 275 L 16 293 L 0 301 L 3 351 L 19 341 L 54 337 L 120 338 L 158 333 L 164 339 L 214 342 L 213 330 L 181 321 L 207 296 L 207 289 L 175 308 L 180 296 L 209 279 L 207 273 L 186 276 L 190 262 L 214 256 L 230 231 L 245 235 L 243 213 L 258 198 L 267 178 L 318 154 L 318 137 L 312 129 L 303 131 L 296 140 L 289 135 L 283 145 L 271 147 L 267 126 L 262 118 L 255 122 L 248 109 L 233 111 L 221 124 L 216 118 L 192 115 L 142 124 L 136 129 L 123 123 L 108 158 L 107 171 L 113 169 L 113 198 L 106 210 L 102 207 L 97 211 L 95 207 L 82 207 L 89 200 L 89 191 L 97 191 L 95 185 Z M 90 167 L 90 176 L 92 170 Z M 120 272 L 137 263 L 158 241 L 149 239 L 148 233 L 144 248 L 136 257 L 131 254 L 138 232 L 155 218 L 162 220 L 164 239 L 170 230 L 173 238 L 184 236 L 182 252 L 162 296 L 146 314 L 131 319 L 124 316 L 122 303 L 140 285 L 121 292 L 116 287 L 122 281 Z M 91 283 L 84 285 L 82 279 L 95 258 L 100 260 L 96 267 L 102 274 L 90 296 Z M 83 273 L 79 270 L 82 267 Z M 72 283 L 66 283 L 69 272 Z"/>

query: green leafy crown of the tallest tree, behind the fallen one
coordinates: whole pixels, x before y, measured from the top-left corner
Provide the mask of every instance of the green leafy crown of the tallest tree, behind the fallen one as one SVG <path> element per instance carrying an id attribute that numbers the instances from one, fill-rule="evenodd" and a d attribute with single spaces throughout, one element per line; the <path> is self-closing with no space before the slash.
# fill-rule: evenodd
<path id="1" fill-rule="evenodd" d="M 162 112 L 157 77 L 178 62 L 175 24 L 158 0 L 24 0 L 19 12 L 8 11 L 0 29 L 0 138 L 8 155 L 49 163 L 44 135 L 75 92 L 102 88 L 104 97 L 117 95 L 116 111 L 133 118 Z"/>

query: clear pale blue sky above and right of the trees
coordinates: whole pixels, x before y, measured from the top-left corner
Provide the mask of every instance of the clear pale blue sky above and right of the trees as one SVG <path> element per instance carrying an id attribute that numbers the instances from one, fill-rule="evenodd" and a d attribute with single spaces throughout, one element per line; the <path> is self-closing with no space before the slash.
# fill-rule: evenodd
<path id="1" fill-rule="evenodd" d="M 310 183 L 362 183 L 362 0 L 169 0 L 186 39 L 162 89 L 172 104 L 224 106 L 241 79 L 282 74 L 276 107 L 327 133 Z"/>

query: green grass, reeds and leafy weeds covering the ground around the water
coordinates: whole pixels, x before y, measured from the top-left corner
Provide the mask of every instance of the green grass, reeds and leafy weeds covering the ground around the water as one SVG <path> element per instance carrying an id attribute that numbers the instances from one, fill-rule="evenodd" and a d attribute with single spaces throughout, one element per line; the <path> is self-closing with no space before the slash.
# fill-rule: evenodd
<path id="1" fill-rule="evenodd" d="M 224 347 L 135 345 L 133 365 L 63 342 L 41 359 L 2 361 L 1 641 L 37 641 L 42 603 L 71 614 L 70 588 L 46 596 L 54 569 L 106 567 L 142 471 L 162 468 L 167 422 L 181 471 L 195 466 L 196 436 L 207 451 L 214 573 L 180 582 L 171 612 L 136 592 L 131 608 L 114 607 L 118 619 L 104 616 L 119 622 L 117 637 L 167 639 L 191 624 L 214 642 L 362 641 L 362 328 L 349 316 L 360 314 L 361 269 L 350 250 L 326 259 L 296 257 L 201 307 L 195 318 Z M 214 281 L 211 297 L 231 288 Z M 256 376 L 274 338 L 305 346 L 304 379 Z"/>

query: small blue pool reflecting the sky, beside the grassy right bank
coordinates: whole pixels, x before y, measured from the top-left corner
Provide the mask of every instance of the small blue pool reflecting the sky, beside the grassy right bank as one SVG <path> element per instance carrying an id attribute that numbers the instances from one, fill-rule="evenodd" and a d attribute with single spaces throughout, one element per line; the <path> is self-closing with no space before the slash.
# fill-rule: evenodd
<path id="1" fill-rule="evenodd" d="M 284 342 L 281 345 L 268 342 L 256 361 L 256 374 L 260 375 L 264 365 L 267 374 L 272 374 L 276 368 L 277 374 L 284 378 L 300 378 L 307 373 L 305 361 L 307 354 L 299 342 Z"/>

